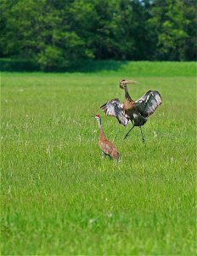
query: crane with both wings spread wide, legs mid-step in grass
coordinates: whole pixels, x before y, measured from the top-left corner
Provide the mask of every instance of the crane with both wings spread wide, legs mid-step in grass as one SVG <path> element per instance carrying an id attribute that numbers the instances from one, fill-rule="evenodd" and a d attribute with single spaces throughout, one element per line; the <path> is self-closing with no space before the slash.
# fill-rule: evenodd
<path id="1" fill-rule="evenodd" d="M 128 125 L 132 122 L 132 128 L 127 132 L 124 139 L 127 138 L 130 131 L 135 126 L 138 126 L 141 131 L 141 136 L 144 136 L 141 126 L 143 126 L 149 115 L 155 112 L 162 102 L 160 93 L 156 90 L 147 91 L 137 101 L 133 101 L 128 93 L 127 84 L 136 84 L 134 80 L 127 81 L 122 79 L 120 82 L 120 88 L 125 90 L 125 102 L 122 104 L 119 99 L 113 99 L 109 102 L 104 103 L 100 108 L 104 110 L 109 116 L 115 116 L 121 125 Z"/>

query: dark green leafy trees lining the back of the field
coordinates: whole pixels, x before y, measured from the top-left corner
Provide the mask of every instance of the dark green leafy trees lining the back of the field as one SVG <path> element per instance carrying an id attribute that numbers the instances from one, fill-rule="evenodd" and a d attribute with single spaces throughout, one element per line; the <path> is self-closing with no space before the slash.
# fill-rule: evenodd
<path id="1" fill-rule="evenodd" d="M 61 70 L 77 61 L 196 59 L 195 0 L 0 0 L 0 56 Z"/>

